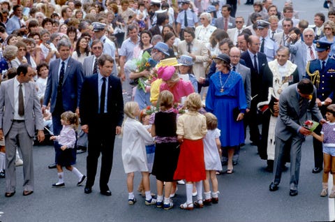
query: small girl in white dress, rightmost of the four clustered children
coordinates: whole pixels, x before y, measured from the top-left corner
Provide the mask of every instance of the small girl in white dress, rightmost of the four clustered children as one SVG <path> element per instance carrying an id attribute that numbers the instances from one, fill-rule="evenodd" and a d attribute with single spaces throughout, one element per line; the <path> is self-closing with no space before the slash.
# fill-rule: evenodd
<path id="1" fill-rule="evenodd" d="M 218 119 L 214 114 L 207 112 L 206 117 L 207 134 L 204 137 L 204 168 L 206 169 L 206 179 L 204 180 L 204 205 L 211 205 L 211 202 L 218 203 L 218 179 L 216 178 L 216 170 L 222 170 L 220 161 L 221 142 L 220 130 L 218 127 Z M 211 188 L 209 186 L 211 179 Z"/>

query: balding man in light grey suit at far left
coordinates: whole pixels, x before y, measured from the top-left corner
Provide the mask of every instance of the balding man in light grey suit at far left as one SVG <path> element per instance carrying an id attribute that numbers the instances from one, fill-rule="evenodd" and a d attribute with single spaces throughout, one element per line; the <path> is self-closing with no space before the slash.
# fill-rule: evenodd
<path id="1" fill-rule="evenodd" d="M 15 152 L 17 144 L 23 158 L 23 195 L 34 192 L 33 137 L 38 130 L 38 141 L 44 140 L 43 116 L 34 82 L 34 70 L 28 64 L 17 68 L 17 75 L 1 82 L 0 86 L 0 140 L 6 138 L 6 193 L 15 194 Z M 6 107 L 6 109 L 5 109 Z"/>

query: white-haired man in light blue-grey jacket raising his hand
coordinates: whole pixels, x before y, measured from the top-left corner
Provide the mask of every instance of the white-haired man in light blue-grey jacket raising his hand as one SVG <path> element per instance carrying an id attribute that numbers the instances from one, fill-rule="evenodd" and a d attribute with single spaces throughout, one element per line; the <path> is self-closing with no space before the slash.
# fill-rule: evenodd
<path id="1" fill-rule="evenodd" d="M 291 55 L 293 55 L 291 58 L 291 60 L 293 60 L 292 62 L 298 66 L 299 79 L 301 80 L 306 75 L 307 62 L 317 59 L 318 54 L 313 45 L 315 36 L 314 30 L 311 28 L 304 30 L 304 41 L 301 40 L 299 31 L 297 27 L 290 29 L 290 38 L 286 41 L 286 45 L 290 49 Z"/>

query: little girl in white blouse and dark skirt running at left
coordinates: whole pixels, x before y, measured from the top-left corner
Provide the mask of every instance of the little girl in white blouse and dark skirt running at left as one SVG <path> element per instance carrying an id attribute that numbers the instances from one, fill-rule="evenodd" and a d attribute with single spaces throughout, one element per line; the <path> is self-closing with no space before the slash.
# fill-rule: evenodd
<path id="1" fill-rule="evenodd" d="M 58 182 L 56 184 L 52 184 L 54 188 L 62 188 L 65 186 L 64 184 L 64 172 L 63 167 L 65 166 L 66 170 L 70 170 L 79 178 L 77 182 L 77 186 L 81 186 L 86 176 L 82 175 L 82 173 L 74 168 L 72 165 L 75 164 L 76 158 L 76 149 L 75 141 L 77 140 L 77 135 L 75 130 L 78 128 L 79 118 L 78 115 L 71 112 L 63 112 L 61 114 L 61 124 L 63 128 L 61 129 L 61 133 L 59 135 L 53 135 L 50 137 L 50 140 L 56 141 L 56 166 L 58 173 Z"/>

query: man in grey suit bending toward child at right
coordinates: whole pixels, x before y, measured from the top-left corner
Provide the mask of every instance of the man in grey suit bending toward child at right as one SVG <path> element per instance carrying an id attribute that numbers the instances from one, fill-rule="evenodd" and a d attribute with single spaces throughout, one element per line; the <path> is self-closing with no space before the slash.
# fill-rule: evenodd
<path id="1" fill-rule="evenodd" d="M 306 135 L 311 131 L 302 126 L 307 120 L 307 110 L 321 124 L 322 119 L 318 105 L 315 103 L 316 89 L 313 83 L 304 79 L 286 88 L 279 98 L 279 118 L 276 124 L 276 147 L 274 155 L 274 181 L 269 186 L 270 191 L 277 191 L 281 182 L 281 172 L 284 159 L 284 147 L 290 142 L 290 195 L 298 194 L 299 171 L 301 161 L 301 145 Z"/>

